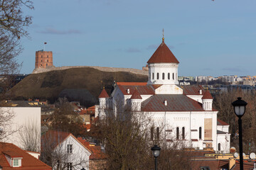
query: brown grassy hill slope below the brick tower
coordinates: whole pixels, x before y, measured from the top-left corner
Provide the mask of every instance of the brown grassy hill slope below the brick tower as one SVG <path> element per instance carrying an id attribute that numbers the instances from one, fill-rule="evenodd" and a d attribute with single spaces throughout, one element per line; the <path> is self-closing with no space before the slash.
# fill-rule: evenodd
<path id="1" fill-rule="evenodd" d="M 90 67 L 55 70 L 28 75 L 9 91 L 9 97 L 40 98 L 54 102 L 58 97 L 66 96 L 70 101 L 92 106 L 98 101 L 102 84 L 110 94 L 114 79 L 117 82 L 146 82 L 148 77 L 131 72 L 103 72 Z"/>

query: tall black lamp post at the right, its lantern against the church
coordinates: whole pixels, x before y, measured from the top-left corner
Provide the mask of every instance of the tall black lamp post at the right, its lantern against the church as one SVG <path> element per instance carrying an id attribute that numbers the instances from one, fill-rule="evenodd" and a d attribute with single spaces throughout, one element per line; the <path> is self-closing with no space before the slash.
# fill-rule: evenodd
<path id="1" fill-rule="evenodd" d="M 242 158 L 242 115 L 245 114 L 245 106 L 247 103 L 241 100 L 242 98 L 238 97 L 237 101 L 232 103 L 235 111 L 235 115 L 238 116 L 238 130 L 239 130 L 239 157 L 240 157 L 240 170 L 243 169 L 243 158 Z"/>

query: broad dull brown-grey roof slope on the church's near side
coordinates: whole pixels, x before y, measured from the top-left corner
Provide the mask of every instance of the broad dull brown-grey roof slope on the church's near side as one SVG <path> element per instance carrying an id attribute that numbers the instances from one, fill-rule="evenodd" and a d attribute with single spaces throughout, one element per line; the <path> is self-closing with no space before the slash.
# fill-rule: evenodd
<path id="1" fill-rule="evenodd" d="M 164 100 L 167 106 L 164 106 Z M 142 111 L 204 111 L 202 104 L 183 94 L 157 94 L 142 102 Z"/>

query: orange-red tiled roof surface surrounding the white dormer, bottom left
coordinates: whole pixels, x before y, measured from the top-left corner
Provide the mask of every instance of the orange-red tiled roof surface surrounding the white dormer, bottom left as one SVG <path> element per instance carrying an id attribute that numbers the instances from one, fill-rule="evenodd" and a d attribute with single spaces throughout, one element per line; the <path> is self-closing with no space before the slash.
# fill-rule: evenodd
<path id="1" fill-rule="evenodd" d="M 15 154 L 18 157 L 22 157 L 22 159 L 21 159 L 22 166 L 15 167 L 15 168 L 11 167 L 9 162 L 7 161 L 6 157 L 4 156 L 4 153 Z M 28 154 L 26 151 L 17 147 L 16 145 L 11 144 L 11 143 L 4 143 L 4 142 L 0 142 L 0 165 L 3 167 L 3 169 L 6 169 L 6 170 L 9 170 L 9 169 L 50 170 L 50 169 L 52 169 L 50 166 L 44 164 L 39 159 L 36 159 L 31 154 Z"/>

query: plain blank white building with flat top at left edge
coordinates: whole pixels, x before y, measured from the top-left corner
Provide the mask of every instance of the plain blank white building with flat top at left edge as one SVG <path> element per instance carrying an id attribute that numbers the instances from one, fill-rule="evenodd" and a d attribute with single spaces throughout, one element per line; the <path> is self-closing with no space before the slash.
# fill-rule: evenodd
<path id="1" fill-rule="evenodd" d="M 40 152 L 40 106 L 30 105 L 25 101 L 18 101 L 18 103 L 8 104 L 8 107 L 1 107 L 0 113 L 1 142 L 13 143 L 21 147 L 21 149 L 31 149 L 31 151 Z"/>

